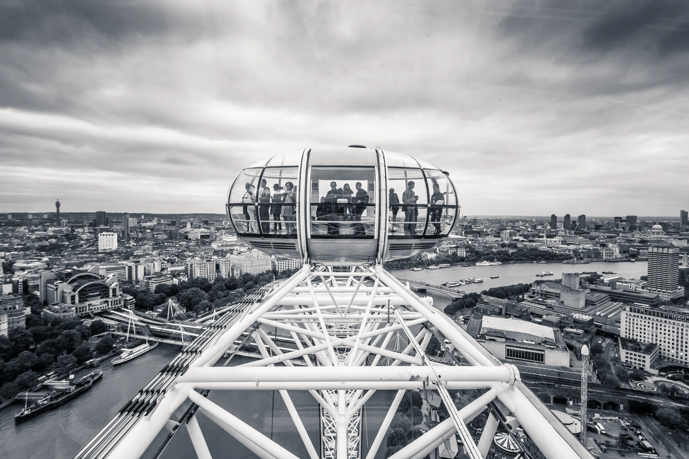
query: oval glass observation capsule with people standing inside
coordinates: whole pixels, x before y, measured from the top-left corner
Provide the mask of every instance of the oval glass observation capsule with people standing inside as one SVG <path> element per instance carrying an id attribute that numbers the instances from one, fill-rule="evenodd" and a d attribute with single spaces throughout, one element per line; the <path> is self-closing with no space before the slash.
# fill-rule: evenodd
<path id="1" fill-rule="evenodd" d="M 460 206 L 449 173 L 411 156 L 350 145 L 304 149 L 244 169 L 227 215 L 244 242 L 309 264 L 379 264 L 432 250 Z"/>

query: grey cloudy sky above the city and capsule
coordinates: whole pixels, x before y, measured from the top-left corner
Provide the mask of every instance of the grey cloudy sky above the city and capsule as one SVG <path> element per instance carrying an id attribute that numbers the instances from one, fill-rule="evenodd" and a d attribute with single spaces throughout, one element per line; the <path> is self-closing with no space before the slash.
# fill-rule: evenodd
<path id="1" fill-rule="evenodd" d="M 0 2 L 0 211 L 223 213 L 275 153 L 450 171 L 463 213 L 689 207 L 689 3 Z"/>

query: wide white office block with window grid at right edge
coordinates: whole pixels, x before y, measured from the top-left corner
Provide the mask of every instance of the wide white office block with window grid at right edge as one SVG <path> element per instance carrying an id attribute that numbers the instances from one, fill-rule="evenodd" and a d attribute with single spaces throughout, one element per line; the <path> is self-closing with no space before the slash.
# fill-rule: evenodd
<path id="1" fill-rule="evenodd" d="M 620 315 L 619 336 L 655 343 L 663 359 L 689 364 L 689 309 L 628 304 Z M 647 360 L 648 362 L 648 360 Z"/>

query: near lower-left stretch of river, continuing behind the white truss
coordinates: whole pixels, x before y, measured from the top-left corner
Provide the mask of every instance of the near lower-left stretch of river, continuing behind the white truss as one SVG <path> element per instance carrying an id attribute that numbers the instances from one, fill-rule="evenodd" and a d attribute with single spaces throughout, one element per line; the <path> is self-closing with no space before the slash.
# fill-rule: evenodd
<path id="1" fill-rule="evenodd" d="M 0 411 L 0 457 L 21 459 L 70 459 L 96 432 L 110 420 L 125 403 L 153 378 L 179 352 L 176 345 L 161 344 L 134 361 L 112 367 L 103 361 L 99 369 L 103 378 L 92 389 L 67 404 L 41 414 L 36 418 L 14 425 L 14 414 L 21 403 L 14 403 Z M 236 357 L 232 364 L 247 359 Z M 93 370 L 77 372 L 79 378 Z M 300 413 L 316 451 L 320 451 L 318 405 L 305 391 L 290 391 L 291 399 Z M 364 409 L 362 420 L 362 449 L 367 453 L 378 433 L 387 407 L 395 396 L 394 391 L 378 391 Z M 273 438 L 278 444 L 300 458 L 308 453 L 294 427 L 287 407 L 279 392 L 273 391 L 213 391 L 209 399 L 224 407 L 245 423 Z M 214 458 L 229 456 L 234 459 L 253 459 L 254 453 L 236 441 L 203 415 L 198 416 L 208 447 Z M 385 444 L 376 459 L 382 459 Z M 320 454 L 320 453 L 319 453 Z M 195 458 L 196 453 L 186 429 L 182 429 L 163 453 L 165 459 Z"/>

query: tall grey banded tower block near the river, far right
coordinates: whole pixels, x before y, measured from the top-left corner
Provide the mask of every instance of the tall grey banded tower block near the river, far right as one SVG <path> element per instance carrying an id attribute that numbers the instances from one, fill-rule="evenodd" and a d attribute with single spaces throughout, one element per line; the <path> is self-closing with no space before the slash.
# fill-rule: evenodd
<path id="1" fill-rule="evenodd" d="M 679 287 L 679 248 L 670 245 L 648 247 L 648 290 L 662 299 L 683 296 Z"/>

